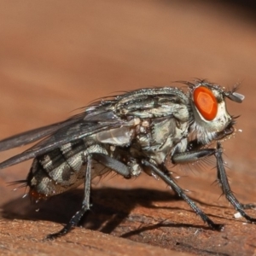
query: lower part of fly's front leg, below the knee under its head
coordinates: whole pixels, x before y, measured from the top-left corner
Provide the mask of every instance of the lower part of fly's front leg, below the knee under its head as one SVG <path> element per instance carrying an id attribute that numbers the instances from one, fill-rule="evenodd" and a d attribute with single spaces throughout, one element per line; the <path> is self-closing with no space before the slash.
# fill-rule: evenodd
<path id="1" fill-rule="evenodd" d="M 220 186 L 223 190 L 224 195 L 226 196 L 227 200 L 230 201 L 231 205 L 235 207 L 236 211 L 241 214 L 243 218 L 246 218 L 248 222 L 256 224 L 256 218 L 252 218 L 249 215 L 247 215 L 246 212 L 243 211 L 243 209 L 247 209 L 252 207 L 252 204 L 249 205 L 243 205 L 241 204 L 235 197 L 235 195 L 232 193 L 230 189 L 230 184 L 224 169 L 224 162 L 222 159 L 222 148 L 221 144 L 217 143 L 217 149 L 215 152 L 215 157 L 217 159 L 217 177 L 218 181 L 220 183 Z"/>

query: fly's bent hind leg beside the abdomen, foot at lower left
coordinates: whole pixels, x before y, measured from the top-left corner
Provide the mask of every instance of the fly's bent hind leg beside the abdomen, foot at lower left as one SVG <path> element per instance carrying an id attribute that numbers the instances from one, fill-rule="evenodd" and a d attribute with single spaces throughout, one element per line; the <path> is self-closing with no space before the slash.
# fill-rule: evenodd
<path id="1" fill-rule="evenodd" d="M 57 237 L 66 235 L 73 227 L 79 224 L 80 219 L 84 216 L 84 213 L 90 210 L 90 172 L 91 172 L 91 160 L 96 160 L 104 166 L 111 168 L 113 171 L 119 173 L 120 175 L 129 178 L 130 170 L 123 163 L 118 160 L 114 160 L 106 154 L 93 153 L 86 156 L 86 170 L 84 177 L 84 200 L 82 202 L 82 207 L 79 212 L 76 212 L 71 220 L 64 226 L 62 230 L 55 234 L 50 234 L 46 236 L 46 239 L 53 240 Z"/>

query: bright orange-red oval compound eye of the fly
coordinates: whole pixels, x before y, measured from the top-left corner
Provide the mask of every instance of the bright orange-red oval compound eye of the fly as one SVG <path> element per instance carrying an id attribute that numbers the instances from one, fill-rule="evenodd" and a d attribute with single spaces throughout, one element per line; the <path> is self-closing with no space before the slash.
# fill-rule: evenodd
<path id="1" fill-rule="evenodd" d="M 218 103 L 212 90 L 200 86 L 194 90 L 195 107 L 199 110 L 204 119 L 212 120 L 216 117 Z"/>

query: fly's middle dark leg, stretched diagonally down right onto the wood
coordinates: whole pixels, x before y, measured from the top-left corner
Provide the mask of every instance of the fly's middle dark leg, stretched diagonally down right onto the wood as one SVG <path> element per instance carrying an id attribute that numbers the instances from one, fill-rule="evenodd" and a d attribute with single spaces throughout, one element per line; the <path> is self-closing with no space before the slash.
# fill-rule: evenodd
<path id="1" fill-rule="evenodd" d="M 147 166 L 150 168 L 152 172 L 154 172 L 158 177 L 160 177 L 165 183 L 167 183 L 171 188 L 179 195 L 184 201 L 186 201 L 196 214 L 198 214 L 204 222 L 208 224 L 213 230 L 222 230 L 223 225 L 222 224 L 215 224 L 211 218 L 208 218 L 207 214 L 199 207 L 196 206 L 195 202 L 192 201 L 188 195 L 185 194 L 184 190 L 181 189 L 177 183 L 172 178 L 172 175 L 168 172 L 166 167 L 164 167 L 164 172 L 160 170 L 157 166 L 154 166 L 151 162 L 148 160 L 142 160 L 143 166 Z"/>

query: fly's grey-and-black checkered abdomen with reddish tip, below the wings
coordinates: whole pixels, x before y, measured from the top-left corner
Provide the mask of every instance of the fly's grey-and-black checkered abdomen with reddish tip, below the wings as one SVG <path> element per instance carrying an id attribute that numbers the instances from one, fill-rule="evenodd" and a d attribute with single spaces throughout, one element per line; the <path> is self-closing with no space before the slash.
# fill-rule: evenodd
<path id="1" fill-rule="evenodd" d="M 108 154 L 108 150 L 87 138 L 67 143 L 39 156 L 33 161 L 27 176 L 27 184 L 32 191 L 30 194 L 43 198 L 78 187 L 84 182 L 87 156 L 92 153 Z M 92 173 L 92 176 L 103 172 L 106 170 L 97 166 L 96 173 Z"/>

